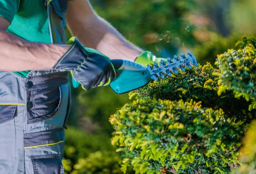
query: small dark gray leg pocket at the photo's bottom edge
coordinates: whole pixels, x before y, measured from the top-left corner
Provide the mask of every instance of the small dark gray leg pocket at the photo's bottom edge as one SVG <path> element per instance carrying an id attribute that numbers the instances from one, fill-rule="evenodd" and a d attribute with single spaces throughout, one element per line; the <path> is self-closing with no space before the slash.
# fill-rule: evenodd
<path id="1" fill-rule="evenodd" d="M 59 155 L 36 155 L 30 158 L 35 174 L 64 174 Z"/>

